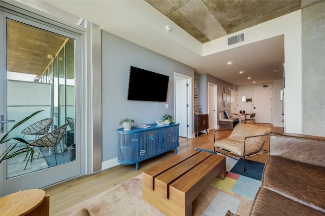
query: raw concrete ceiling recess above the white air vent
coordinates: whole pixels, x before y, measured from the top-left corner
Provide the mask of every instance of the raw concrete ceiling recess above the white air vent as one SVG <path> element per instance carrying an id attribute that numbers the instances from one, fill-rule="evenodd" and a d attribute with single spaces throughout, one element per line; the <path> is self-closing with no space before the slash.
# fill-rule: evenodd
<path id="1" fill-rule="evenodd" d="M 300 9 L 301 0 L 145 0 L 204 43 Z"/>

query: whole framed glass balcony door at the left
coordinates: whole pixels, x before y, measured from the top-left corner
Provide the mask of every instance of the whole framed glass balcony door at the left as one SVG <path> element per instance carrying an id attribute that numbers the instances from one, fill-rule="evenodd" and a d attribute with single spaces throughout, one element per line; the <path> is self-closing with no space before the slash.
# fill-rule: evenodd
<path id="1" fill-rule="evenodd" d="M 50 27 L 45 21 L 37 20 L 37 15 L 31 20 L 3 7 L 1 20 L 5 20 L 0 24 L 1 47 L 7 49 L 1 50 L 0 86 L 4 88 L 0 92 L 3 102 L 0 114 L 5 120 L 15 122 L 4 124 L 0 138 L 35 111 L 42 110 L 11 131 L 8 138 L 23 138 L 31 144 L 68 123 L 69 118 L 73 122 L 53 147 L 29 146 L 15 140 L 1 145 L 1 152 L 10 146 L 17 150 L 29 146 L 34 150 L 32 160 L 22 154 L 0 164 L 0 196 L 4 196 L 18 190 L 43 188 L 82 174 L 83 142 L 79 138 L 80 112 L 76 109 L 75 95 L 80 88 L 76 88 L 79 84 L 76 78 L 83 74 L 76 59 L 81 59 L 84 38 L 81 32 Z M 22 133 L 24 128 L 42 119 L 51 119 L 44 133 Z"/>

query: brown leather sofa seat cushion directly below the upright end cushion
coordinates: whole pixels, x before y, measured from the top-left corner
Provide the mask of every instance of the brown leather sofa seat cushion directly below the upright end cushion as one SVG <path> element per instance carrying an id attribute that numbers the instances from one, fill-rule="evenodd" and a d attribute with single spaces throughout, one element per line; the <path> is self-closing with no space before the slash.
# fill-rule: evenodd
<path id="1" fill-rule="evenodd" d="M 268 155 L 262 186 L 325 213 L 324 167 Z"/>

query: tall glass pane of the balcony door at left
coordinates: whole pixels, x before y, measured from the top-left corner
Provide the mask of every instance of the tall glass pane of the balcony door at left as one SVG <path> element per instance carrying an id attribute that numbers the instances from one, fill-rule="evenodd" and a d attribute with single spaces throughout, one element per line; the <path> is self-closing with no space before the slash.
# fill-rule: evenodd
<path id="1" fill-rule="evenodd" d="M 75 160 L 74 124 L 58 133 L 59 142 L 45 139 L 66 117 L 75 119 L 75 41 L 7 19 L 7 68 L 7 119 L 16 119 L 7 131 L 42 110 L 10 132 L 9 138 L 29 144 L 10 140 L 7 147 L 17 144 L 14 150 L 29 147 L 35 153 L 32 160 L 25 153 L 8 159 L 7 178 Z"/>

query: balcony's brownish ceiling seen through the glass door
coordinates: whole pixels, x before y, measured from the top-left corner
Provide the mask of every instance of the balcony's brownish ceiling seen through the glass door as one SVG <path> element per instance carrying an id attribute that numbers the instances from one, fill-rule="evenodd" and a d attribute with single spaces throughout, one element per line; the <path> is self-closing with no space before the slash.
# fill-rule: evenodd
<path id="1" fill-rule="evenodd" d="M 51 39 L 49 39 L 51 38 Z M 43 75 L 67 37 L 7 20 L 7 70 Z"/>

